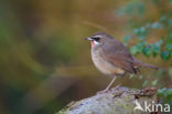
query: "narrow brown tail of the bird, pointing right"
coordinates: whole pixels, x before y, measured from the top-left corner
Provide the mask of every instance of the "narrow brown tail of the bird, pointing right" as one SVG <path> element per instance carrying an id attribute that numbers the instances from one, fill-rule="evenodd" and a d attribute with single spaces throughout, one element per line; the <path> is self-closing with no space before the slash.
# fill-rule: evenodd
<path id="1" fill-rule="evenodd" d="M 135 66 L 140 66 L 140 68 L 151 68 L 151 69 L 154 69 L 154 70 L 159 70 L 159 68 L 154 66 L 154 65 L 151 65 L 151 64 L 148 64 L 148 63 L 144 63 L 144 62 L 141 62 L 137 59 L 133 59 L 133 65 Z"/>

